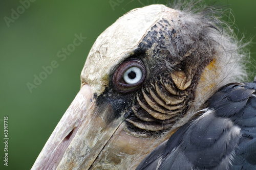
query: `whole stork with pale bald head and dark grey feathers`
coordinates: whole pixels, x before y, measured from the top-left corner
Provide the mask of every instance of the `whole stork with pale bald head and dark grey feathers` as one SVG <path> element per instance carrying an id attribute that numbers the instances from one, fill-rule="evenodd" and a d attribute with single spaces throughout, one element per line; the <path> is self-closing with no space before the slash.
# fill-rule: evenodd
<path id="1" fill-rule="evenodd" d="M 212 10 L 126 13 L 95 41 L 32 169 L 256 168 L 256 85 L 234 83 L 246 77 L 239 42 Z"/>

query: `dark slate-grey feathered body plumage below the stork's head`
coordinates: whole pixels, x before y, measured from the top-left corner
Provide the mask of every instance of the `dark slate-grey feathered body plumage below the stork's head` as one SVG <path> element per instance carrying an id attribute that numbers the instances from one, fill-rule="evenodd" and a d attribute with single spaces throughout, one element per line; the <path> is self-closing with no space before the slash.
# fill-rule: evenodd
<path id="1" fill-rule="evenodd" d="M 256 82 L 222 87 L 136 169 L 256 169 L 255 90 Z"/>

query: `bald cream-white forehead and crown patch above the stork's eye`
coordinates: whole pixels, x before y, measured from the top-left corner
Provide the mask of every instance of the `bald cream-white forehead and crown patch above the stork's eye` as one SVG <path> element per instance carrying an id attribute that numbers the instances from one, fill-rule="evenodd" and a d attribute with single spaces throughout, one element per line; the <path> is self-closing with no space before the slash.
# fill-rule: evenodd
<path id="1" fill-rule="evenodd" d="M 179 13 L 164 5 L 134 9 L 106 29 L 95 41 L 81 72 L 81 82 L 100 94 L 109 83 L 113 66 L 133 55 L 148 31 L 160 20 L 177 19 Z M 172 29 L 172 26 L 169 26 Z M 97 64 L 95 64 L 97 63 Z"/>

